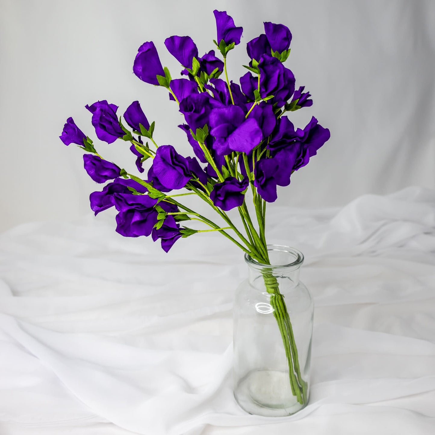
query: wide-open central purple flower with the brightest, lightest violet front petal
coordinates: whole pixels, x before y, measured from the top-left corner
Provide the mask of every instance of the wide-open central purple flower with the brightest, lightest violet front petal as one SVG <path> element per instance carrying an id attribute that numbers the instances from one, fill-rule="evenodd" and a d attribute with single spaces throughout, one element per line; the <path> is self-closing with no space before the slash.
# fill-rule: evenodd
<path id="1" fill-rule="evenodd" d="M 210 114 L 210 134 L 216 137 L 214 150 L 220 155 L 231 151 L 249 153 L 262 140 L 263 134 L 255 119 L 245 119 L 238 106 L 213 109 Z"/>

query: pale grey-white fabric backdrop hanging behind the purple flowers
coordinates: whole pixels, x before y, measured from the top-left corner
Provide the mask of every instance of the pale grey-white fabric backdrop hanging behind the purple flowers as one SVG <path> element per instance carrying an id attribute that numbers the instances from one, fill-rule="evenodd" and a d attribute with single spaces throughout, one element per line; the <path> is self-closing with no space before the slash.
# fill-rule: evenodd
<path id="1" fill-rule="evenodd" d="M 189 34 L 200 54 L 212 49 L 214 8 L 244 27 L 228 59 L 234 79 L 246 72 L 244 44 L 263 32 L 263 21 L 290 27 L 286 65 L 314 99 L 295 123 L 303 127 L 314 114 L 331 130 L 328 144 L 281 190 L 279 204 L 344 205 L 364 193 L 435 187 L 431 0 L 0 0 L 0 231 L 89 210 L 95 184 L 81 152 L 58 139 L 69 116 L 96 139 L 85 104 L 107 99 L 124 113 L 138 99 L 156 121 L 158 143 L 188 153 L 176 105 L 137 79 L 132 65 L 137 48 L 153 40 L 177 77 L 164 39 Z M 134 168 L 125 144 L 103 149 Z"/>

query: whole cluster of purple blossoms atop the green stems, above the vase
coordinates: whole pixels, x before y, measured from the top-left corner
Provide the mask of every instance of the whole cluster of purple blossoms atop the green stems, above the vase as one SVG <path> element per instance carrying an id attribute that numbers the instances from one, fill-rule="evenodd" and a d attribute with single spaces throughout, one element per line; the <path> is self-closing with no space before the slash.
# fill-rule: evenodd
<path id="1" fill-rule="evenodd" d="M 290 54 L 288 27 L 264 23 L 264 33 L 247 43 L 248 72 L 237 84 L 228 80 L 226 59 L 240 44 L 243 29 L 226 12 L 215 10 L 214 16 L 216 49 L 202 57 L 191 37 L 164 41 L 181 64 L 181 78 L 171 78 L 151 41 L 139 47 L 133 64 L 139 79 L 165 87 L 169 99 L 178 104 L 185 120 L 178 127 L 186 133 L 195 157 L 182 156 L 172 145 L 157 146 L 154 123 L 149 123 L 138 101 L 125 110 L 125 123 L 118 107 L 106 100 L 86 108 L 100 141 L 110 144 L 121 139 L 131 144 L 139 173 L 145 172 L 146 161 L 152 162 L 144 179 L 104 160 L 72 118 L 60 136 L 65 145 L 74 143 L 87 151 L 84 168 L 94 181 L 109 181 L 102 191 L 90 194 L 95 214 L 115 207 L 118 233 L 151 235 L 154 241 L 161 240 L 165 251 L 178 238 L 197 232 L 181 227 L 180 222 L 192 214 L 186 207 L 181 211 L 169 192 L 185 188 L 223 212 L 242 207 L 250 186 L 257 201 L 273 202 L 277 186 L 288 186 L 291 174 L 308 164 L 330 137 L 315 117 L 301 129 L 284 115 L 312 105 L 311 95 L 303 86 L 296 90 L 294 74 L 284 66 Z M 223 72 L 226 80 L 220 78 Z"/>

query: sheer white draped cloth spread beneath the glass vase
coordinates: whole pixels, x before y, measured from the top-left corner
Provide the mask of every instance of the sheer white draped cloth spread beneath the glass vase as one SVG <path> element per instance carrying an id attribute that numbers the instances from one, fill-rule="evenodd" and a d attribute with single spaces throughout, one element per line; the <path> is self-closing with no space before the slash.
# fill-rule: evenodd
<path id="1" fill-rule="evenodd" d="M 286 418 L 232 395 L 241 251 L 204 233 L 165 254 L 102 215 L 0 237 L 2 435 L 435 433 L 435 191 L 271 208 L 315 298 L 310 403 Z"/>

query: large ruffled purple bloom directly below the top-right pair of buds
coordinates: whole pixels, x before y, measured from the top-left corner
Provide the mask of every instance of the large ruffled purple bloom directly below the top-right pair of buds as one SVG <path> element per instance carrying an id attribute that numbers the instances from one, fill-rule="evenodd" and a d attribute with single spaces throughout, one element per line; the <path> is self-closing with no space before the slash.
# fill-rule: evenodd
<path id="1" fill-rule="evenodd" d="M 273 103 L 282 107 L 294 93 L 294 75 L 276 57 L 263 54 L 258 64 L 261 98 L 274 95 Z"/>

